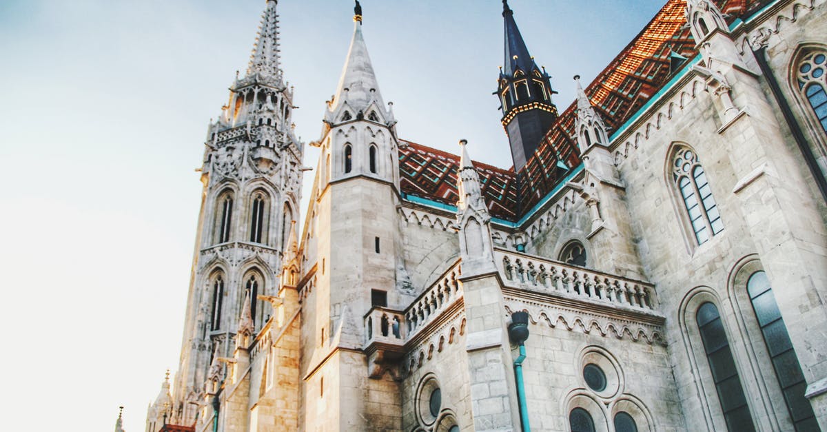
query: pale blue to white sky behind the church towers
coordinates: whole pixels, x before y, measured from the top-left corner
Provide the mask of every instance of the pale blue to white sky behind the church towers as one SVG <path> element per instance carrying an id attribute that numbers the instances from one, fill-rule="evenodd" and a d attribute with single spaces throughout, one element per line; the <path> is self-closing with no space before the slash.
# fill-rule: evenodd
<path id="1" fill-rule="evenodd" d="M 562 112 L 664 0 L 511 0 Z M 404 139 L 508 168 L 500 0 L 362 0 Z M 208 120 L 246 69 L 264 0 L 0 0 L 4 430 L 145 427 L 178 365 Z M 294 121 L 318 139 L 349 0 L 281 0 Z M 304 165 L 318 156 L 307 147 Z M 312 182 L 308 172 L 305 184 Z M 305 193 L 307 195 L 307 193 Z M 306 196 L 305 196 L 306 198 Z M 306 204 L 304 204 L 306 206 Z M 304 208 L 302 209 L 304 213 Z"/>

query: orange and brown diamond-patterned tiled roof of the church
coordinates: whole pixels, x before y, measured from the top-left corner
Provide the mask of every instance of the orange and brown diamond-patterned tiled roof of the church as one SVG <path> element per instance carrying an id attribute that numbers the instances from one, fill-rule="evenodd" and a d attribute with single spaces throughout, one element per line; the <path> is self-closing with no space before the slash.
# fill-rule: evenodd
<path id="1" fill-rule="evenodd" d="M 729 22 L 748 17 L 769 0 L 716 0 Z M 697 55 L 685 26 L 686 0 L 669 0 L 638 36 L 586 88 L 610 130 L 632 118 L 672 78 L 670 54 Z M 502 170 L 475 162 L 485 199 L 497 218 L 516 221 L 551 192 L 569 170 L 579 166 L 574 137 L 576 102 L 560 114 L 534 155 L 520 170 Z M 504 143 L 505 145 L 505 143 Z M 399 151 L 402 191 L 444 204 L 457 202 L 459 156 L 410 143 Z"/>

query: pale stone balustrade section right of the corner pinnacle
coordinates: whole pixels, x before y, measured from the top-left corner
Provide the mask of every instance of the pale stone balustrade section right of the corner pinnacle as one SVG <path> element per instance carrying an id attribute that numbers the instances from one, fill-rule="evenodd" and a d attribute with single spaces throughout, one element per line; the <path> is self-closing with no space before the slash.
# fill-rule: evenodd
<path id="1" fill-rule="evenodd" d="M 633 310 L 657 307 L 654 286 L 643 281 L 504 249 L 495 249 L 495 263 L 505 286 Z"/>

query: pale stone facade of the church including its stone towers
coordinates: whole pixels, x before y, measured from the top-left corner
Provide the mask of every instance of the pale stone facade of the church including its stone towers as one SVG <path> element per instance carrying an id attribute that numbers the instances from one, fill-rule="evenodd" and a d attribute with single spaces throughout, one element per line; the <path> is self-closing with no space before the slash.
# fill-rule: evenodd
<path id="1" fill-rule="evenodd" d="M 181 364 L 147 431 L 827 430 L 825 3 L 667 2 L 696 55 L 614 129 L 578 80 L 558 120 L 578 164 L 504 220 L 466 142 L 397 137 L 357 2 L 299 230 L 269 0 L 208 130 Z M 411 186 L 414 147 L 451 166 L 452 205 Z"/>

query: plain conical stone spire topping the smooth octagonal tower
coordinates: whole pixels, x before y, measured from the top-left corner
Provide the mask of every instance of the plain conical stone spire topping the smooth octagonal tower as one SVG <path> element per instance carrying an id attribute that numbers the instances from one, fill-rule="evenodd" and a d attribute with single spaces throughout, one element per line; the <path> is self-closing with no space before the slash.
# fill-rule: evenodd
<path id="1" fill-rule="evenodd" d="M 356 3 L 356 12 L 361 12 L 361 6 L 358 5 L 358 2 Z M 365 38 L 362 36 L 361 14 L 357 13 L 356 17 L 358 19 L 354 23 L 353 38 L 351 39 L 351 47 L 347 51 L 347 60 L 344 68 L 342 68 L 342 76 L 339 79 L 336 95 L 328 107 L 329 112 L 334 113 L 342 104 L 347 103 L 351 109 L 355 110 L 355 113 L 352 113 L 354 118 L 360 112 L 364 114 L 370 103 L 375 102 L 377 108 L 385 110 L 385 103 L 382 101 L 379 84 L 373 71 L 373 64 L 370 62 Z M 385 112 L 383 112 L 383 115 L 387 118 Z"/>

